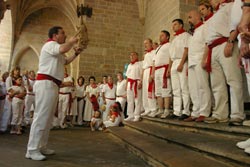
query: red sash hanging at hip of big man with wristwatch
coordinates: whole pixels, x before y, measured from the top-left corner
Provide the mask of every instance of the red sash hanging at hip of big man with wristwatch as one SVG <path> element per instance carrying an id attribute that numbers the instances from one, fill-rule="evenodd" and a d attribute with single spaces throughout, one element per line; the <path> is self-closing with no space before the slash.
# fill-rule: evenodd
<path id="1" fill-rule="evenodd" d="M 217 38 L 210 45 L 208 45 L 208 57 L 207 57 L 207 72 L 208 73 L 210 73 L 212 71 L 211 60 L 212 60 L 212 51 L 213 51 L 213 48 L 216 47 L 216 46 L 218 46 L 218 45 L 223 44 L 227 40 L 228 40 L 227 37 Z"/>

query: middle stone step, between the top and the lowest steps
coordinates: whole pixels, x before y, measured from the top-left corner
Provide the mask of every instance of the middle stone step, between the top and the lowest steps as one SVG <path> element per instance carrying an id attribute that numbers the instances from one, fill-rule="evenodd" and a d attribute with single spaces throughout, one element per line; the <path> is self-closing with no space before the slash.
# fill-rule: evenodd
<path id="1" fill-rule="evenodd" d="M 236 147 L 239 139 L 180 131 L 148 121 L 126 122 L 125 126 L 130 130 L 182 146 L 185 149 L 195 150 L 224 162 L 235 163 L 236 166 L 250 166 L 249 156 L 244 153 L 244 150 Z"/>

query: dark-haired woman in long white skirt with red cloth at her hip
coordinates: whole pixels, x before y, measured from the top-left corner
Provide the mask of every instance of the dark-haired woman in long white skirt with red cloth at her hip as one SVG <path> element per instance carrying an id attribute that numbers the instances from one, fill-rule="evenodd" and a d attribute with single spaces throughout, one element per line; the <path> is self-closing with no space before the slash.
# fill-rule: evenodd
<path id="1" fill-rule="evenodd" d="M 98 96 L 100 94 L 100 89 L 95 83 L 95 77 L 89 77 L 89 85 L 86 87 L 86 106 L 84 110 L 84 118 L 83 120 L 86 122 L 90 122 L 92 116 L 94 115 L 94 109 L 98 109 L 96 102 Z M 98 103 L 98 102 L 97 102 Z"/>

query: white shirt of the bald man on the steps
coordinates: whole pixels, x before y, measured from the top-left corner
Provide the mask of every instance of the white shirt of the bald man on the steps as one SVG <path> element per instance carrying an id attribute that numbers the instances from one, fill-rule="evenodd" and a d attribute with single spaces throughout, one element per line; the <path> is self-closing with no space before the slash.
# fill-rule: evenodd
<path id="1" fill-rule="evenodd" d="M 200 64 L 205 49 L 204 24 L 195 29 L 189 38 L 188 67 Z"/>

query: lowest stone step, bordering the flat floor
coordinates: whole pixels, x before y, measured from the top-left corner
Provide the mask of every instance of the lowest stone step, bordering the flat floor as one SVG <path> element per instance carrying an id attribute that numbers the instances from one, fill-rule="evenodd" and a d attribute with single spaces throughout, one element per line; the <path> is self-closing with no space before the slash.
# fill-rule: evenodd
<path id="1" fill-rule="evenodd" d="M 147 127 L 145 127 L 147 128 Z M 153 167 L 235 167 L 205 153 L 167 142 L 127 127 L 109 130 L 117 141 Z"/>

